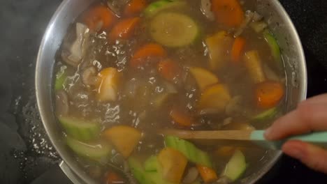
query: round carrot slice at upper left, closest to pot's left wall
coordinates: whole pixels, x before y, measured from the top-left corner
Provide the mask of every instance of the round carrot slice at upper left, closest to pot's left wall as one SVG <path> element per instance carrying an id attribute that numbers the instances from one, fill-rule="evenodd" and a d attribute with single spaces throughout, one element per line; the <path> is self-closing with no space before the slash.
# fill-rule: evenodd
<path id="1" fill-rule="evenodd" d="M 116 16 L 106 6 L 99 5 L 85 13 L 84 22 L 91 31 L 108 30 L 116 21 Z"/>

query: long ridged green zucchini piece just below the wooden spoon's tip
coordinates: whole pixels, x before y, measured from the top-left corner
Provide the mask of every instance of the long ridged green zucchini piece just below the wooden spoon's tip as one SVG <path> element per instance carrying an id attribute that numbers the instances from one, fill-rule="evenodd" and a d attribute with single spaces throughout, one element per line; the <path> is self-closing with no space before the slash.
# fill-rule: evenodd
<path id="1" fill-rule="evenodd" d="M 166 136 L 165 144 L 167 147 L 175 148 L 177 151 L 183 153 L 189 161 L 212 168 L 212 161 L 208 153 L 196 148 L 191 142 L 174 136 Z"/>

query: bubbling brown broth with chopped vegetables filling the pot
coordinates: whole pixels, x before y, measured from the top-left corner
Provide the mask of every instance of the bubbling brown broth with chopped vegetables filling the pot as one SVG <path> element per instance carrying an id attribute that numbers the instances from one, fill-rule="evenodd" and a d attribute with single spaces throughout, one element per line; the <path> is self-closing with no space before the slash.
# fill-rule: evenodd
<path id="1" fill-rule="evenodd" d="M 208 2 L 110 1 L 110 10 L 97 1 L 68 29 L 56 56 L 56 114 L 68 147 L 99 183 L 131 182 L 110 165 L 138 183 L 231 183 L 242 161 L 251 167 L 264 156 L 160 133 L 263 129 L 284 108 L 282 58 L 256 1 L 201 5 Z M 228 171 L 231 162 L 241 169 Z"/>

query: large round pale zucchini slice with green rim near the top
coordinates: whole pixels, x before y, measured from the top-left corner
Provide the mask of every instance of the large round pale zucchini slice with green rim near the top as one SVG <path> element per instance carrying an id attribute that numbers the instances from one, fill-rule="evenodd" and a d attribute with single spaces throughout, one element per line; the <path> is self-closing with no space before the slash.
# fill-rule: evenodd
<path id="1" fill-rule="evenodd" d="M 167 47 L 190 45 L 196 40 L 198 33 L 196 22 L 182 13 L 159 13 L 150 22 L 152 38 Z"/>

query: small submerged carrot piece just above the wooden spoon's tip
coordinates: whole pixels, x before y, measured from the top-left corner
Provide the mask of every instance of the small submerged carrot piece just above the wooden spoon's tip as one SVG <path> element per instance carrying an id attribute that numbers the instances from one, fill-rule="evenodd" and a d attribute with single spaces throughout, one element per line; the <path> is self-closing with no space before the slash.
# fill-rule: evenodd
<path id="1" fill-rule="evenodd" d="M 187 112 L 178 109 L 177 107 L 173 107 L 170 111 L 170 117 L 173 118 L 173 121 L 182 127 L 191 127 L 193 123 L 193 118 Z"/>

